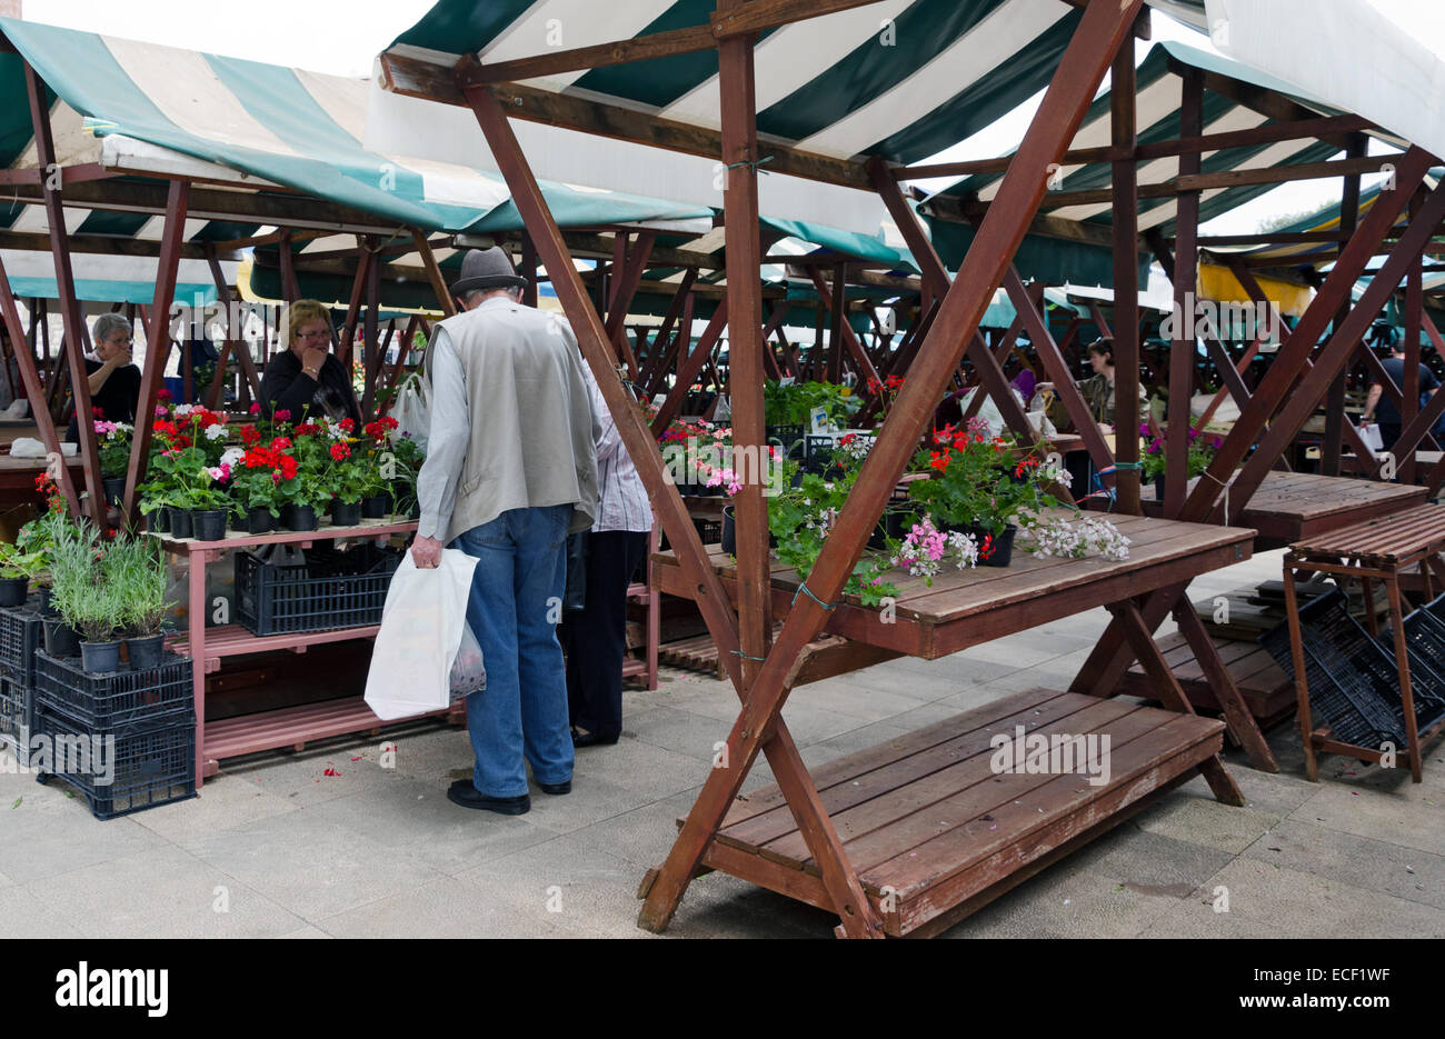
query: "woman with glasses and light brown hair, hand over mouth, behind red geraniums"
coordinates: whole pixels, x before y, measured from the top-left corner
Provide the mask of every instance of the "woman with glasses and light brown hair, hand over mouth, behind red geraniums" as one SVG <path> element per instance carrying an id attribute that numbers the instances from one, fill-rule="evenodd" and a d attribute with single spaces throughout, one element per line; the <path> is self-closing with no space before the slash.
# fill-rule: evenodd
<path id="1" fill-rule="evenodd" d="M 262 376 L 262 408 L 290 412 L 293 422 L 302 416 L 341 421 L 350 418 L 360 428 L 351 379 L 340 358 L 331 353 L 331 314 L 315 299 L 298 299 L 282 315 L 280 341 L 286 347 Z"/>

